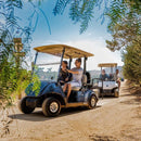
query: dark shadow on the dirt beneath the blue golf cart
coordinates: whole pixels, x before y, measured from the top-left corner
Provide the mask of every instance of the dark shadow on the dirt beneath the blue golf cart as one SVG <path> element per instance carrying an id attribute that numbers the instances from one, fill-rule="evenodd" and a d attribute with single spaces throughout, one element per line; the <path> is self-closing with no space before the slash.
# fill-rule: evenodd
<path id="1" fill-rule="evenodd" d="M 95 111 L 99 107 L 101 106 L 98 105 L 93 111 Z M 69 116 L 73 114 L 78 114 L 78 113 L 88 112 L 88 111 L 90 110 L 87 110 L 86 107 L 77 107 L 77 108 L 74 107 L 74 108 L 63 108 L 60 115 L 56 117 L 46 117 L 42 111 L 36 111 L 31 114 L 13 114 L 13 115 L 9 115 L 9 117 L 12 119 L 20 119 L 20 120 L 43 121 L 43 120 L 51 120 L 55 118 L 61 118 L 63 116 Z"/>

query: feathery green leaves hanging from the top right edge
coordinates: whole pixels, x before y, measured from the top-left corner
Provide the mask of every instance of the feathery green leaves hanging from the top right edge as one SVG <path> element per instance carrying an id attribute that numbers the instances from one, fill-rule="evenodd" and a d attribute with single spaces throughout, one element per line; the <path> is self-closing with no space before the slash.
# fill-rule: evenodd
<path id="1" fill-rule="evenodd" d="M 69 5 L 70 20 L 75 24 L 80 23 L 80 34 L 88 28 L 97 8 L 102 11 L 100 14 L 101 24 L 103 24 L 105 16 L 110 17 L 110 30 L 117 21 L 129 12 L 128 9 L 137 13 L 141 9 L 139 0 L 57 0 L 53 10 L 54 15 L 63 14 L 67 5 Z"/>

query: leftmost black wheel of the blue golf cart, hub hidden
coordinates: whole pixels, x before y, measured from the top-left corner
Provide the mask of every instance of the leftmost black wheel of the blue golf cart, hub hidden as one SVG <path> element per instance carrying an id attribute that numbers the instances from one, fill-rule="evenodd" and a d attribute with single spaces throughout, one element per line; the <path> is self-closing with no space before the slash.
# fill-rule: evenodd
<path id="1" fill-rule="evenodd" d="M 20 102 L 18 102 L 18 108 L 22 113 L 24 114 L 30 114 L 31 112 L 34 112 L 35 107 L 29 107 L 26 106 L 26 100 L 27 97 L 23 98 Z"/>

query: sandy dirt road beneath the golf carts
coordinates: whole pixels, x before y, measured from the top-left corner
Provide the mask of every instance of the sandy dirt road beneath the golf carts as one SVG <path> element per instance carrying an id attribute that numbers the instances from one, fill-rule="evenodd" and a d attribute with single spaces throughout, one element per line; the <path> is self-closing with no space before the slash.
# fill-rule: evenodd
<path id="1" fill-rule="evenodd" d="M 49 118 L 41 108 L 25 115 L 13 107 L 9 117 L 10 134 L 0 141 L 141 141 L 141 98 L 126 82 L 119 99 L 104 98 L 94 110 L 65 110 Z"/>

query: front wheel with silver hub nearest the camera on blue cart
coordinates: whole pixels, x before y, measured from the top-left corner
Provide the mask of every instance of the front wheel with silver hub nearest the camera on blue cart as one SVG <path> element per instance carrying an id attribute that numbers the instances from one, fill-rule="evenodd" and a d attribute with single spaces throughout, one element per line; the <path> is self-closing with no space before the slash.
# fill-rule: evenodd
<path id="1" fill-rule="evenodd" d="M 57 116 L 61 112 L 61 102 L 55 98 L 47 98 L 42 103 L 44 116 Z"/>

